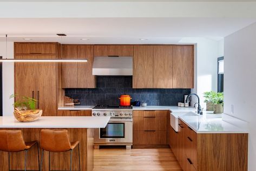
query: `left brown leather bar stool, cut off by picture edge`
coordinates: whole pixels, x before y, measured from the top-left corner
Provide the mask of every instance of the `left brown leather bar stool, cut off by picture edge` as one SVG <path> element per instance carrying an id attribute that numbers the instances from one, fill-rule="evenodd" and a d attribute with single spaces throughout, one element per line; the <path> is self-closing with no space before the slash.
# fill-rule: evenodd
<path id="1" fill-rule="evenodd" d="M 10 171 L 10 153 L 25 151 L 25 171 L 27 170 L 28 150 L 37 144 L 38 170 L 40 170 L 39 148 L 37 141 L 25 142 L 21 130 L 0 130 L 0 150 L 8 152 L 9 171 Z"/>

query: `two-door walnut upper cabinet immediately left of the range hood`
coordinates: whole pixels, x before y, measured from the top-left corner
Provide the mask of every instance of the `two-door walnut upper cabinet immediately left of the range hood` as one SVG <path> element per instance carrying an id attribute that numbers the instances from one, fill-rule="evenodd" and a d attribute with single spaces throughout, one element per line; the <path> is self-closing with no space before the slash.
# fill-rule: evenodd
<path id="1" fill-rule="evenodd" d="M 62 63 L 62 88 L 95 88 L 93 45 L 62 45 L 62 58 L 87 59 L 86 63 Z"/>

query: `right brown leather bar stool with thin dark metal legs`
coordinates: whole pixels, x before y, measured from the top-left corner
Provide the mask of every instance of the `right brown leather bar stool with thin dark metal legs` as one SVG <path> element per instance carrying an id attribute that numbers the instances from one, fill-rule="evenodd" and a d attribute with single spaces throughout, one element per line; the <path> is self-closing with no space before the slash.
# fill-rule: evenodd
<path id="1" fill-rule="evenodd" d="M 79 170 L 80 163 L 80 147 L 79 141 L 70 142 L 67 129 L 42 129 L 40 135 L 40 147 L 42 148 L 41 168 L 43 164 L 44 150 L 49 152 L 49 171 L 50 171 L 50 152 L 67 152 L 70 150 L 70 170 L 72 168 L 72 152 L 78 145 Z"/>

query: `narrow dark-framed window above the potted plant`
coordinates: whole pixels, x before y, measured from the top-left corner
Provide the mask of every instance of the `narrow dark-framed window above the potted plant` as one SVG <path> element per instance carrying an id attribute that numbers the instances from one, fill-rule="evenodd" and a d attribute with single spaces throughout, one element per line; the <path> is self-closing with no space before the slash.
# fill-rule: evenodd
<path id="1" fill-rule="evenodd" d="M 224 91 L 224 56 L 218 57 L 218 92 Z"/>

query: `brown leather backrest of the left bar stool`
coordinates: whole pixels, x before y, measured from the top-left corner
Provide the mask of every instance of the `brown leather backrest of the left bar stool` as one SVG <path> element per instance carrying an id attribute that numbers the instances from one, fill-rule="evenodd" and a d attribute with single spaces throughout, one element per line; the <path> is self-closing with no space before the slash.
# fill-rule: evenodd
<path id="1" fill-rule="evenodd" d="M 0 150 L 19 152 L 27 148 L 21 130 L 0 130 Z"/>

